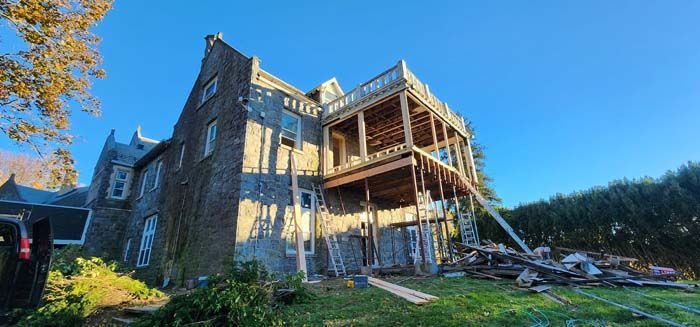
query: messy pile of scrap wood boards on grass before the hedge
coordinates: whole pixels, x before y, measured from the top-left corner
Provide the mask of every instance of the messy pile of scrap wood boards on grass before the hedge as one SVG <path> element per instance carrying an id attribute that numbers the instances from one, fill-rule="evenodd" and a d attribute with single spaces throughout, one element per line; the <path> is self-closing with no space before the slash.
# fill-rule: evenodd
<path id="1" fill-rule="evenodd" d="M 462 257 L 444 266 L 443 271 L 464 271 L 480 278 L 512 278 L 520 287 L 543 284 L 697 287 L 673 282 L 678 274 L 671 268 L 651 267 L 648 273 L 634 269 L 630 264 L 637 259 L 623 256 L 568 248 L 557 248 L 552 252 L 548 247 L 540 247 L 535 249 L 534 254 L 527 254 L 503 244 L 456 244 Z"/>

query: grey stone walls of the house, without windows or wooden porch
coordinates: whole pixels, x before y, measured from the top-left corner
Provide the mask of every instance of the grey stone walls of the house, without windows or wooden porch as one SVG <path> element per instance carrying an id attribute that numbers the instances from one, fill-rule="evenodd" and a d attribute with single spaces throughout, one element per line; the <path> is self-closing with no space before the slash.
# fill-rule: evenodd
<path id="1" fill-rule="evenodd" d="M 215 81 L 216 91 L 205 97 Z M 231 260 L 256 258 L 275 272 L 296 270 L 287 240 L 291 237 L 290 154 L 296 159 L 299 187 L 311 191 L 322 182 L 321 106 L 309 95 L 264 71 L 219 36 L 207 38 L 201 70 L 174 126 L 172 137 L 147 147 L 140 131 L 129 145 L 110 134 L 93 174 L 87 204 L 95 214 L 85 251 L 119 259 L 151 285 L 163 281 L 221 273 Z M 300 144 L 282 145 L 283 113 L 300 118 Z M 215 140 L 209 126 L 216 122 Z M 141 140 L 141 141 L 140 141 Z M 209 143 L 209 145 L 207 145 Z M 348 138 L 349 156 L 359 155 Z M 213 147 L 211 153 L 207 148 Z M 137 151 L 141 150 L 141 151 Z M 374 151 L 375 149 L 370 149 Z M 154 187 L 162 163 L 159 185 Z M 123 199 L 109 192 L 115 169 L 130 172 Z M 141 195 L 141 178 L 148 180 Z M 342 193 L 342 201 L 339 196 Z M 350 189 L 327 194 L 348 269 L 362 265 L 359 246 L 364 194 Z M 415 208 L 372 203 L 376 209 L 377 250 L 383 264 L 410 262 L 405 228 L 389 224 L 406 220 Z M 139 265 L 146 219 L 157 216 L 147 265 Z M 324 273 L 327 251 L 319 220 L 313 221 L 313 246 L 307 254 L 310 273 Z"/>

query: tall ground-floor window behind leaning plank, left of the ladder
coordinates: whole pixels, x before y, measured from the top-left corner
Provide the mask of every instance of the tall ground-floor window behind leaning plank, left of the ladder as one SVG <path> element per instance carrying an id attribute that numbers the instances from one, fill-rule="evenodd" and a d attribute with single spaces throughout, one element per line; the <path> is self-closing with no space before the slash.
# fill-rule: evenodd
<path id="1" fill-rule="evenodd" d="M 315 205 L 313 203 L 313 193 L 307 190 L 299 190 L 301 199 L 299 204 L 301 205 L 301 232 L 304 238 L 304 252 L 306 254 L 314 254 L 314 239 L 315 239 Z M 292 202 L 292 192 L 289 192 L 289 205 L 287 206 L 287 221 L 290 224 L 289 233 L 287 234 L 287 249 L 288 255 L 293 255 L 296 253 L 296 235 L 294 233 L 294 205 Z"/>

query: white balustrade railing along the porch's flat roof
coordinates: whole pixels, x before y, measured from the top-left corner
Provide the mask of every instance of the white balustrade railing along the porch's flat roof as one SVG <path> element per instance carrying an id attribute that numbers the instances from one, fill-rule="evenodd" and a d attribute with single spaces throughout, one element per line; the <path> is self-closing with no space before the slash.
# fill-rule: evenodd
<path id="1" fill-rule="evenodd" d="M 440 99 L 433 95 L 430 92 L 430 87 L 428 87 L 428 84 L 421 82 L 416 75 L 408 70 L 406 67 L 406 62 L 403 60 L 400 60 L 396 65 L 375 76 L 369 81 L 358 85 L 345 95 L 325 104 L 323 118 L 325 119 L 333 113 L 351 106 L 363 98 L 381 92 L 389 85 L 399 82 L 406 82 L 410 88 L 416 91 L 423 101 L 427 102 L 461 132 L 466 133 L 464 118 L 454 113 L 447 103 L 440 101 Z"/>

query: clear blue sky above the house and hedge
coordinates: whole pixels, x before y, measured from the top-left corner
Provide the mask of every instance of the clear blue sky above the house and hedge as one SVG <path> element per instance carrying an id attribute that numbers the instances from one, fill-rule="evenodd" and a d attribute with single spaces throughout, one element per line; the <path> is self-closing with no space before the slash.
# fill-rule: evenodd
<path id="1" fill-rule="evenodd" d="M 405 59 L 473 121 L 508 206 L 700 160 L 697 1 L 124 1 L 96 29 L 103 115 L 74 116 L 88 183 L 104 138 L 169 137 L 206 34 L 302 90 Z M 0 141 L 7 147 L 7 141 Z"/>

